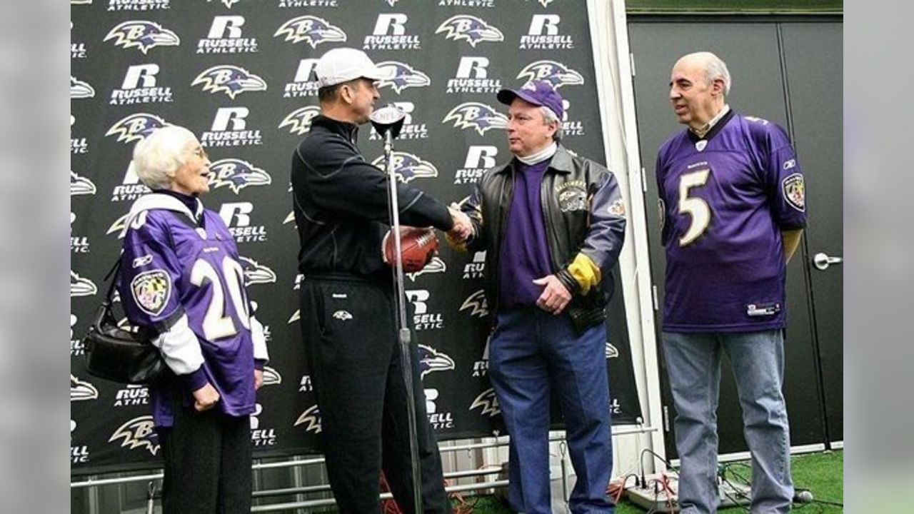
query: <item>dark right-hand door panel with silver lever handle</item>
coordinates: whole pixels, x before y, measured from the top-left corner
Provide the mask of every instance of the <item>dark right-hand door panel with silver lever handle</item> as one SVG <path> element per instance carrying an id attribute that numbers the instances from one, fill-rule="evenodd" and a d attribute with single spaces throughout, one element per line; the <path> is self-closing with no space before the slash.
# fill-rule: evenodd
<path id="1" fill-rule="evenodd" d="M 781 24 L 796 151 L 809 177 L 805 257 L 822 365 L 827 442 L 844 434 L 844 95 L 838 23 Z M 837 260 L 836 260 L 837 259 Z M 818 261 L 818 262 L 816 262 Z"/>

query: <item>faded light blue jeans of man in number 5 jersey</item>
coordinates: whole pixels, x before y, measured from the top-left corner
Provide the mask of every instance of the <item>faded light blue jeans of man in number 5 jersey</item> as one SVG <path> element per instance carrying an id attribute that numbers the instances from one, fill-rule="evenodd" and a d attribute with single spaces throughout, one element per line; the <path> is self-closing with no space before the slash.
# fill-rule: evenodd
<path id="1" fill-rule="evenodd" d="M 753 513 L 791 509 L 790 427 L 781 392 L 781 330 L 739 333 L 664 332 L 664 356 L 676 407 L 676 450 L 681 460 L 683 514 L 717 512 L 717 398 L 721 350 L 733 363 L 752 455 Z"/>

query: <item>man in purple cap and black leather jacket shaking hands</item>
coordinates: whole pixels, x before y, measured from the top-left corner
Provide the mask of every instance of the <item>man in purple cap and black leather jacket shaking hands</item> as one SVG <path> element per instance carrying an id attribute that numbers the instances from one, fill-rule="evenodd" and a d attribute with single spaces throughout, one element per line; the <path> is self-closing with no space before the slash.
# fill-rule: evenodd
<path id="1" fill-rule="evenodd" d="M 489 170 L 462 210 L 473 234 L 453 245 L 486 251 L 494 307 L 489 372 L 511 435 L 508 500 L 551 512 L 549 396 L 558 392 L 571 463 L 573 512 L 611 512 L 606 315 L 625 233 L 615 177 L 559 144 L 562 98 L 542 80 L 498 91 L 509 105 L 514 158 Z"/>

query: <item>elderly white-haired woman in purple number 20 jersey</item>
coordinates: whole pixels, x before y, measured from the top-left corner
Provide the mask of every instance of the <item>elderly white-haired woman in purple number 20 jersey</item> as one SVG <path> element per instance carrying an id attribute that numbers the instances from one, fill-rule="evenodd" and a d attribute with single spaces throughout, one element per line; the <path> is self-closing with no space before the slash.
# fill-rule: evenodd
<path id="1" fill-rule="evenodd" d="M 165 457 L 163 510 L 250 512 L 250 421 L 267 348 L 251 316 L 238 248 L 209 190 L 209 159 L 186 128 L 133 150 L 153 190 L 125 223 L 119 291 L 131 323 L 154 327 L 171 373 L 150 389 Z"/>

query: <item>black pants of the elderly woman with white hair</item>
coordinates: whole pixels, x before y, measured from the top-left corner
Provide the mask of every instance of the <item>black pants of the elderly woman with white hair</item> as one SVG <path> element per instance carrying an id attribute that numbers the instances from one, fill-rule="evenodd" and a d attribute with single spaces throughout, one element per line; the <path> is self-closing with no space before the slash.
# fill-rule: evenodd
<path id="1" fill-rule="evenodd" d="M 159 431 L 163 514 L 250 514 L 250 419 L 175 405 Z"/>

